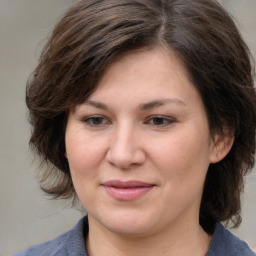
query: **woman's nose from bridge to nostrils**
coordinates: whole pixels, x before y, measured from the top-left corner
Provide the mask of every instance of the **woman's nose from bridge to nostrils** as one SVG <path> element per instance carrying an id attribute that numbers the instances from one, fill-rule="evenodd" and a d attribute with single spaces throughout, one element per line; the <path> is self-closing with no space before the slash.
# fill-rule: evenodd
<path id="1" fill-rule="evenodd" d="M 106 160 L 119 169 L 141 165 L 146 159 L 141 137 L 134 128 L 123 125 L 113 132 Z"/>

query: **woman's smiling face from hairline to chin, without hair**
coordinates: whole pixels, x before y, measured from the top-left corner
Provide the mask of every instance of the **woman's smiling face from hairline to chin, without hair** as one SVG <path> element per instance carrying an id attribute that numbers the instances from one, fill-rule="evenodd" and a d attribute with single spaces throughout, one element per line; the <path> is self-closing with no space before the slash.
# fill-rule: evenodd
<path id="1" fill-rule="evenodd" d="M 160 47 L 124 55 L 70 111 L 66 155 L 89 221 L 133 236 L 198 224 L 216 160 L 199 93 Z"/>

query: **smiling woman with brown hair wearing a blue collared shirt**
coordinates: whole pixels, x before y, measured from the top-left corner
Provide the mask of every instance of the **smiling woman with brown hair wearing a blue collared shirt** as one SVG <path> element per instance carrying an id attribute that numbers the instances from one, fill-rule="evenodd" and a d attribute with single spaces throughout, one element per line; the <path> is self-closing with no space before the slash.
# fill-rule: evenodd
<path id="1" fill-rule="evenodd" d="M 214 0 L 81 0 L 26 95 L 43 190 L 88 215 L 17 255 L 255 255 L 237 227 L 254 165 L 249 50 Z"/>

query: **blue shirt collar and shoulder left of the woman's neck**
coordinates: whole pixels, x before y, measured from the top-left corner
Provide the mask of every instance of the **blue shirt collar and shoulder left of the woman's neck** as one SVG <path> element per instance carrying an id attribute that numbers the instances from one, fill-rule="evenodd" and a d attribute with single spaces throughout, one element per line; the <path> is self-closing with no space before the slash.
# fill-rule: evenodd
<path id="1" fill-rule="evenodd" d="M 87 219 L 81 219 L 76 226 L 47 242 L 29 247 L 27 250 L 13 256 L 86 256 L 84 246 L 84 226 Z"/>

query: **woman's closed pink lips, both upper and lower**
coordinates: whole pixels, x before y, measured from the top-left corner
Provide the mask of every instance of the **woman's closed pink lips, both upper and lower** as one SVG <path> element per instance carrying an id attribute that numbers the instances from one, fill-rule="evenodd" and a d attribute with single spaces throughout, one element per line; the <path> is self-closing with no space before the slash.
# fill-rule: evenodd
<path id="1" fill-rule="evenodd" d="M 102 184 L 103 188 L 112 198 L 121 201 L 132 201 L 139 199 L 143 195 L 149 193 L 154 187 L 154 184 L 130 180 L 110 180 Z"/>

